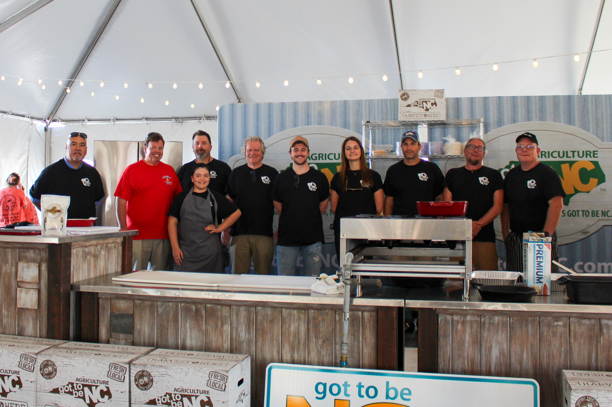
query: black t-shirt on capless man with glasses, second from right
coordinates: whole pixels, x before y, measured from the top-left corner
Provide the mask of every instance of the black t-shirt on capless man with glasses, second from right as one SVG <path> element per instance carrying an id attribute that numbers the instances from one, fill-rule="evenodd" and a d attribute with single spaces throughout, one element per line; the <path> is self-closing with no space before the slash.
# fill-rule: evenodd
<path id="1" fill-rule="evenodd" d="M 504 189 L 504 179 L 499 171 L 485 166 L 475 171 L 451 168 L 444 178 L 444 186 L 453 194 L 453 201 L 468 201 L 466 217 L 479 220 L 493 207 L 493 194 Z M 474 240 L 495 242 L 493 222 L 483 226 Z"/>

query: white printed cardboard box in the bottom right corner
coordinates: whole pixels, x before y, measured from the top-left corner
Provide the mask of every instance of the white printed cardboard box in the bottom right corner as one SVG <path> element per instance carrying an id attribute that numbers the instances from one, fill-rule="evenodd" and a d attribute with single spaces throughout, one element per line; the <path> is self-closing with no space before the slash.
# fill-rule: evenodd
<path id="1" fill-rule="evenodd" d="M 564 407 L 612 405 L 612 372 L 562 370 Z"/>

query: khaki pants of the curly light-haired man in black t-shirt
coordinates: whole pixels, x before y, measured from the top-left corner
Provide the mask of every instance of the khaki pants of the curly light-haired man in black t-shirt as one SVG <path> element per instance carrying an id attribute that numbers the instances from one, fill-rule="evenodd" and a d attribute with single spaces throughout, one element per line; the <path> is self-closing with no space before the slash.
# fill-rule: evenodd
<path id="1" fill-rule="evenodd" d="M 251 259 L 257 274 L 270 274 L 274 258 L 272 237 L 258 234 L 233 236 L 230 257 L 232 274 L 248 274 L 251 270 Z"/>

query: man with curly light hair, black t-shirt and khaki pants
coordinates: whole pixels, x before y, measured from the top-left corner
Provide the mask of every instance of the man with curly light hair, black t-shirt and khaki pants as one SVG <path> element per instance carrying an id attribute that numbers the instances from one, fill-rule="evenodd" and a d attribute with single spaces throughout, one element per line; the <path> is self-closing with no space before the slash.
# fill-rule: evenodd
<path id="1" fill-rule="evenodd" d="M 270 196 L 278 171 L 261 162 L 266 145 L 259 137 L 248 137 L 242 145 L 247 164 L 231 171 L 227 198 L 242 212 L 232 226 L 230 246 L 232 274 L 248 274 L 251 261 L 257 274 L 270 274 L 274 258 L 272 222 L 274 203 Z"/>

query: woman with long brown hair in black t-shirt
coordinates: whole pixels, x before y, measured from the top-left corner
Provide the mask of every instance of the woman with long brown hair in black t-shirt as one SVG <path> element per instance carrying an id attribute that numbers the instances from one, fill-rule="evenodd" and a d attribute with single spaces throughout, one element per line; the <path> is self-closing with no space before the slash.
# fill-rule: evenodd
<path id="1" fill-rule="evenodd" d="M 346 137 L 340 153 L 340 171 L 332 178 L 332 212 L 336 256 L 340 263 L 340 219 L 383 212 L 383 179 L 365 165 L 364 146 L 357 137 Z"/>

